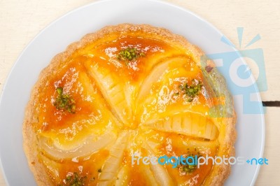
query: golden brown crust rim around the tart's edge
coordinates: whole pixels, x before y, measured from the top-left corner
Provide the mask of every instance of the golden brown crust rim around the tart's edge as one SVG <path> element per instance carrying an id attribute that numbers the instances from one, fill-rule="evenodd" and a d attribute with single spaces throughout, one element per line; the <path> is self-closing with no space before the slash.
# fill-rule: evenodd
<path id="1" fill-rule="evenodd" d="M 152 27 L 148 24 L 119 24 L 117 26 L 107 26 L 103 29 L 94 32 L 92 34 L 87 34 L 80 41 L 72 43 L 69 45 L 64 52 L 59 53 L 55 57 L 53 57 L 50 64 L 41 71 L 40 76 L 38 77 L 37 83 L 34 85 L 30 100 L 27 104 L 27 108 L 25 111 L 25 120 L 23 122 L 23 147 L 25 150 L 25 154 L 27 156 L 29 167 L 31 171 L 34 173 L 34 177 L 38 185 L 52 185 L 52 180 L 48 177 L 48 173 L 45 171 L 44 166 L 38 162 L 38 150 L 37 150 L 37 139 L 36 139 L 36 131 L 32 128 L 32 123 L 36 120 L 34 118 L 34 105 L 38 102 L 38 90 L 40 87 L 45 86 L 45 82 L 48 77 L 52 76 L 57 72 L 59 66 L 65 65 L 66 59 L 70 57 L 74 51 L 79 48 L 83 48 L 87 43 L 91 43 L 92 41 L 96 41 L 99 38 L 106 36 L 112 32 L 120 32 L 125 33 L 129 31 L 143 31 L 145 33 L 152 34 L 155 38 L 164 39 L 169 43 L 174 43 L 176 45 L 181 45 L 183 48 L 186 48 L 190 54 L 192 54 L 193 59 L 200 65 L 200 57 L 204 55 L 204 52 L 197 48 L 197 46 L 190 44 L 186 41 L 186 38 L 183 36 L 179 36 L 176 34 L 172 34 L 167 29 Z M 207 64 L 211 67 L 215 67 L 214 62 L 211 60 L 207 61 Z M 235 155 L 235 122 L 236 122 L 236 114 L 233 113 L 232 117 L 225 118 L 226 124 L 226 138 L 223 138 L 223 141 L 219 141 L 221 150 L 226 150 L 229 156 Z M 36 144 L 36 145 L 35 145 Z M 230 174 L 230 165 L 222 165 L 222 166 L 213 166 L 213 169 L 207 179 L 204 181 L 204 185 L 222 185 L 225 180 L 228 178 Z"/>

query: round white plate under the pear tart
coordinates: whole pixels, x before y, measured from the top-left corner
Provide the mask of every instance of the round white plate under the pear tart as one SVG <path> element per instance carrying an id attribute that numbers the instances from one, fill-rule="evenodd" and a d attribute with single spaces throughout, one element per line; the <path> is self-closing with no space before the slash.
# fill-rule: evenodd
<path id="1" fill-rule="evenodd" d="M 8 185 L 36 185 L 22 150 L 22 120 L 31 88 L 40 71 L 73 41 L 106 25 L 123 22 L 165 27 L 185 36 L 207 54 L 235 51 L 221 42 L 223 34 L 211 24 L 188 10 L 162 1 L 98 1 L 64 15 L 29 43 L 13 66 L 3 90 L 0 105 L 0 158 Z M 230 85 L 229 88 L 232 89 Z M 256 99 L 261 101 L 259 94 L 256 95 Z M 234 98 L 238 115 L 237 156 L 262 157 L 264 117 L 260 114 L 244 115 L 242 96 Z M 259 110 L 262 111 L 261 106 Z M 225 185 L 253 185 L 259 168 L 248 164 L 235 165 Z"/>

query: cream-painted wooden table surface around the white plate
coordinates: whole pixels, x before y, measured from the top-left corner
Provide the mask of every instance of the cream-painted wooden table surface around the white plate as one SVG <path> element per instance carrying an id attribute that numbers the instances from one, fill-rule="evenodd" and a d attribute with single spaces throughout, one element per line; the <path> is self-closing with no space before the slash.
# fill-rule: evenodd
<path id="1" fill-rule="evenodd" d="M 244 27 L 244 43 L 260 34 L 261 40 L 254 43 L 253 48 L 262 48 L 265 56 L 268 90 L 261 92 L 262 101 L 280 101 L 280 1 L 169 1 L 208 20 L 235 45 L 238 45 L 237 27 Z M 39 31 L 70 10 L 91 2 L 0 0 L 0 90 L 15 60 Z M 280 164 L 276 160 L 280 157 L 280 125 L 276 119 L 279 114 L 280 107 L 267 107 L 264 157 L 269 159 L 269 165 L 262 166 L 255 185 L 280 185 Z M 2 185 L 6 183 L 0 171 Z"/>

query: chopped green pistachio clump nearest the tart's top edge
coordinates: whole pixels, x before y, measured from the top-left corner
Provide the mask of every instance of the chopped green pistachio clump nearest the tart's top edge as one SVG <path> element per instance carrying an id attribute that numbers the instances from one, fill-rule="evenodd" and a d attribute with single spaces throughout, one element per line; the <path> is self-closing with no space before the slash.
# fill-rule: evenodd
<path id="1" fill-rule="evenodd" d="M 128 64 L 127 61 L 132 61 L 133 59 L 137 59 L 138 57 L 144 57 L 145 53 L 137 50 L 137 48 L 125 48 L 120 50 L 117 55 L 119 60 L 125 61 L 125 64 Z"/>

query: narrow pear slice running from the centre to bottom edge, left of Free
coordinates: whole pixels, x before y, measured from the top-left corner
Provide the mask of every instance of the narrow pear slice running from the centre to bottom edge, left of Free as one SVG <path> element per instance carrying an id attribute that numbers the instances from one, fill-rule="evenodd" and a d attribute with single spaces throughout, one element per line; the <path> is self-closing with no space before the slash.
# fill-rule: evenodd
<path id="1" fill-rule="evenodd" d="M 99 175 L 98 185 L 111 185 L 116 180 L 117 173 L 123 162 L 123 152 L 127 147 L 127 139 L 129 134 L 123 132 L 118 136 L 116 143 L 110 150 L 108 159 L 106 159 L 102 167 L 102 173 Z"/>

